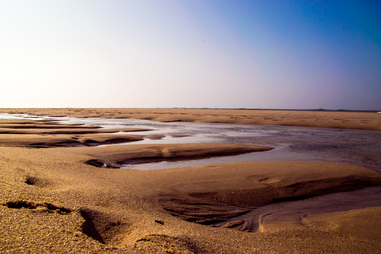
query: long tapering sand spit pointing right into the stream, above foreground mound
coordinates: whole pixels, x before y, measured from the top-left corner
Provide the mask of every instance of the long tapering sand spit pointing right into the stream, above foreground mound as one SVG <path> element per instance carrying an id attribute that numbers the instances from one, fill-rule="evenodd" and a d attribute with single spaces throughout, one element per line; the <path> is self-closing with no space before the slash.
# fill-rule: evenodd
<path id="1" fill-rule="evenodd" d="M 202 158 L 218 155 L 233 155 L 247 152 L 262 152 L 273 147 L 226 143 L 191 144 L 131 144 L 107 147 L 76 147 L 65 149 L 66 154 L 78 157 L 83 163 L 93 166 L 119 168 L 124 163 L 158 161 L 173 158 Z M 61 153 L 62 150 L 49 152 Z M 81 157 L 81 159 L 79 159 Z"/>

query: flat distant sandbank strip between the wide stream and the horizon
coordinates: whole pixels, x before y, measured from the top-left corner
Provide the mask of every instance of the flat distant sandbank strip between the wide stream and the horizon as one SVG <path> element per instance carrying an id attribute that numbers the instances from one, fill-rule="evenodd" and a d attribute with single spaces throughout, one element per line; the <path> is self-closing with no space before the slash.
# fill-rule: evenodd
<path id="1" fill-rule="evenodd" d="M 225 109 L 0 109 L 52 117 L 135 118 L 155 121 L 245 123 L 381 130 L 381 113 Z"/>

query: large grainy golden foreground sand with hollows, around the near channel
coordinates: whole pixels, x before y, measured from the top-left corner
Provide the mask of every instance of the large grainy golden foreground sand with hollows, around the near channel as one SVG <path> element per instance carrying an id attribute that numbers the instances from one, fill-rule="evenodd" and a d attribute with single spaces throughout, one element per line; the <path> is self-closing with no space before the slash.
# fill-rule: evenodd
<path id="1" fill-rule="evenodd" d="M 173 145 L 163 146 L 171 151 Z M 195 144 L 186 145 L 188 153 L 202 152 L 200 147 L 194 149 Z M 252 205 L 281 197 L 379 185 L 381 174 L 372 169 L 342 163 L 258 161 L 140 171 L 83 163 L 94 156 L 115 159 L 115 151 L 102 152 L 104 148 L 107 147 L 0 147 L 0 251 L 381 252 L 381 247 L 370 238 L 349 237 L 344 231 L 329 227 L 322 230 L 319 225 L 279 224 L 276 231 L 257 233 L 242 232 L 240 229 L 244 228 L 229 225 L 202 225 L 214 218 L 223 221 L 250 210 Z M 250 202 L 243 204 L 245 200 Z M 366 225 L 373 229 L 377 226 Z"/>

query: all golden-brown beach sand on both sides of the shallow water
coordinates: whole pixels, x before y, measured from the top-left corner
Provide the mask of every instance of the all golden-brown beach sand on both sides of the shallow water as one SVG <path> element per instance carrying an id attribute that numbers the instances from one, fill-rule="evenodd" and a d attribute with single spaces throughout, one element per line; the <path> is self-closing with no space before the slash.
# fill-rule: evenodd
<path id="1" fill-rule="evenodd" d="M 284 117 L 288 120 L 282 123 L 290 125 L 373 126 L 373 130 L 379 130 L 381 117 L 376 113 L 267 111 L 256 112 L 263 114 L 258 119 L 245 120 L 239 114 L 245 111 L 250 118 L 250 110 L 11 110 L 35 115 L 115 118 L 118 114 L 139 119 L 157 115 L 152 120 L 278 125 L 278 121 L 264 119 L 267 114 L 268 118 Z M 149 110 L 160 110 L 160 114 Z M 133 134 L 81 133 L 121 129 L 43 119 L 1 120 L 0 130 L 1 253 L 381 252 L 380 206 L 307 217 L 279 216 L 263 219 L 256 227 L 249 220 L 235 219 L 267 204 L 381 186 L 381 173 L 370 168 L 321 161 L 247 161 L 134 170 L 123 165 L 261 153 L 272 147 L 226 143 L 94 147 L 164 135 L 139 135 L 138 131 L 149 130 L 141 128 L 122 129 Z M 55 131 L 61 131 L 60 135 Z"/>

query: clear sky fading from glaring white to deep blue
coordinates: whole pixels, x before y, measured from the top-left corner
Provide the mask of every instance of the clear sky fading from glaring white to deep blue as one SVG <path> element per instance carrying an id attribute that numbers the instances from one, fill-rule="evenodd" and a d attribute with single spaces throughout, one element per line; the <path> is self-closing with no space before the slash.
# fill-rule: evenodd
<path id="1" fill-rule="evenodd" d="M 0 0 L 0 107 L 381 110 L 380 1 Z"/>

